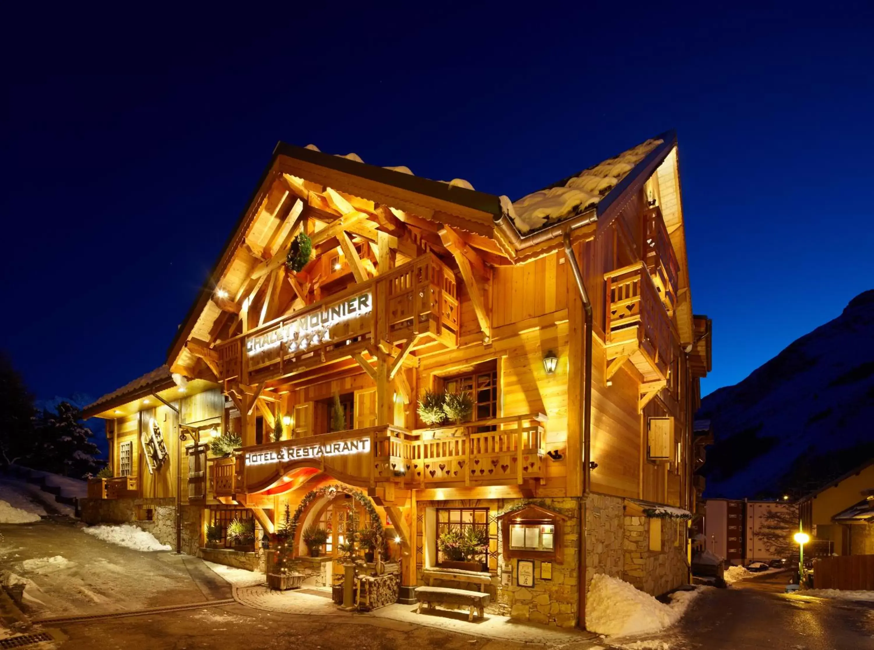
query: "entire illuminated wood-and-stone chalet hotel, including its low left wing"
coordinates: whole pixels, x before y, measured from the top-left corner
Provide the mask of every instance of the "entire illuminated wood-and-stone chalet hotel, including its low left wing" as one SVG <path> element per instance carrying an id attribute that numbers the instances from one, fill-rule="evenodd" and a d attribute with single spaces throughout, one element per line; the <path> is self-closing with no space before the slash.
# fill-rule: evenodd
<path id="1" fill-rule="evenodd" d="M 205 527 L 251 518 L 260 539 L 288 507 L 300 570 L 329 584 L 357 513 L 385 528 L 409 602 L 423 571 L 458 566 L 439 543 L 457 529 L 484 543 L 466 560 L 493 611 L 572 626 L 595 573 L 652 594 L 688 580 L 688 414 L 710 329 L 692 311 L 673 133 L 515 203 L 280 143 L 169 370 L 87 409 L 117 478 L 86 509 L 166 521 L 184 433 L 187 552 L 255 562 L 203 548 Z M 427 390 L 467 393 L 469 415 L 428 425 Z M 191 441 L 211 431 L 242 448 L 212 458 Z M 328 531 L 317 558 L 311 525 Z"/>

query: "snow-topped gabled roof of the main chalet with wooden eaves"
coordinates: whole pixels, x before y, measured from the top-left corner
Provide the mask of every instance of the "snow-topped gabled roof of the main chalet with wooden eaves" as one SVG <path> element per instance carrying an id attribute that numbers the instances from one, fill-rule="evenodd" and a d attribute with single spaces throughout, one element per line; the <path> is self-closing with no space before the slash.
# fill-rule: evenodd
<path id="1" fill-rule="evenodd" d="M 512 263 L 519 263 L 546 255 L 560 246 L 565 232 L 573 230 L 581 237 L 584 226 L 592 226 L 594 232 L 593 224 L 601 219 L 606 226 L 674 151 L 676 134 L 673 131 L 649 139 L 550 188 L 519 199 L 517 204 L 523 211 L 523 216 L 520 216 L 517 204 L 512 204 L 506 196 L 477 192 L 461 179 L 449 182 L 431 180 L 414 176 L 406 167 L 365 164 L 354 154 L 335 156 L 312 145 L 297 147 L 278 143 L 203 290 L 177 329 L 168 350 L 168 361 L 174 367 L 185 341 L 198 336 L 192 332 L 197 329 L 203 335 L 209 330 L 210 315 L 207 311 L 213 291 L 228 272 L 234 252 L 245 241 L 247 228 L 257 217 L 258 208 L 267 197 L 271 184 L 283 174 L 292 173 L 326 187 L 332 185 L 338 191 L 492 239 L 510 256 Z M 676 161 L 676 156 L 673 159 Z M 662 166 L 670 166 L 673 170 L 676 163 Z M 678 185 L 674 193 L 678 203 Z M 584 194 L 586 200 L 577 200 Z M 558 201 L 561 205 L 553 205 L 549 199 L 556 196 L 564 197 L 563 201 Z M 679 236 L 682 237 L 682 233 Z M 212 311 L 218 312 L 218 308 Z M 198 325 L 201 318 L 204 322 Z"/>

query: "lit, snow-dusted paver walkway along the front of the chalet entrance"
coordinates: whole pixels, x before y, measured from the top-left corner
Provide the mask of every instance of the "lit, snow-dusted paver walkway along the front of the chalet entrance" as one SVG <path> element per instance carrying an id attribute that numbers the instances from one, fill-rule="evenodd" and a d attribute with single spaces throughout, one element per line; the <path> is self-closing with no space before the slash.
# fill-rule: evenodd
<path id="1" fill-rule="evenodd" d="M 326 591 L 330 595 L 330 591 Z M 487 613 L 482 619 L 468 622 L 468 612 L 436 610 L 417 613 L 417 605 L 388 605 L 375 612 L 343 612 L 337 609 L 330 598 L 314 596 L 300 591 L 270 591 L 263 584 L 235 584 L 233 598 L 241 605 L 267 612 L 304 614 L 307 616 L 326 616 L 332 618 L 370 617 L 390 619 L 417 626 L 434 627 L 455 633 L 471 634 L 489 639 L 515 641 L 517 643 L 537 643 L 544 646 L 567 646 L 582 644 L 587 640 L 598 640 L 595 634 L 575 630 L 563 630 L 551 626 L 538 626 L 519 623 L 505 616 Z M 577 646 L 575 646 L 577 647 Z"/>

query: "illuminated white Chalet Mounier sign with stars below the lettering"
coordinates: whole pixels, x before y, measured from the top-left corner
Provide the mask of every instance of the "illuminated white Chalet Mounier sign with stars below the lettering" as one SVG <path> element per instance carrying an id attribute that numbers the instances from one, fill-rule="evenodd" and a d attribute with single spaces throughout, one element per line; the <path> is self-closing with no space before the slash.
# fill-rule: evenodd
<path id="1" fill-rule="evenodd" d="M 353 318 L 361 318 L 373 310 L 371 293 L 359 293 L 341 302 L 327 304 L 318 311 L 282 323 L 274 330 L 246 339 L 246 353 L 267 352 L 285 343 L 290 353 L 305 352 L 331 340 L 331 328 Z"/>

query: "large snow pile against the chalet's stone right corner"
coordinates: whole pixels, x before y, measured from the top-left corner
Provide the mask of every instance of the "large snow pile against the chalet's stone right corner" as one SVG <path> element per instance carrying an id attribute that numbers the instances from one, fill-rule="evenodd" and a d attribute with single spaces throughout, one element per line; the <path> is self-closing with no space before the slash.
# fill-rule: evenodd
<path id="1" fill-rule="evenodd" d="M 618 577 L 598 574 L 586 596 L 586 627 L 608 636 L 658 632 L 672 626 L 700 593 L 677 591 L 664 605 Z"/>

